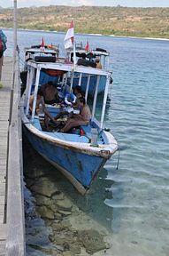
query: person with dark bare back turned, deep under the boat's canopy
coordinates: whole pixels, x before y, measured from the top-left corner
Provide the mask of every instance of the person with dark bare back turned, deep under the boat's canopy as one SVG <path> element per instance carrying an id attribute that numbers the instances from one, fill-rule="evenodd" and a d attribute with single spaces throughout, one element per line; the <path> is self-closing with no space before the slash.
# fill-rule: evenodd
<path id="1" fill-rule="evenodd" d="M 51 105 L 59 102 L 58 89 L 52 81 L 49 81 L 47 84 L 42 84 L 42 92 L 44 103 Z"/>

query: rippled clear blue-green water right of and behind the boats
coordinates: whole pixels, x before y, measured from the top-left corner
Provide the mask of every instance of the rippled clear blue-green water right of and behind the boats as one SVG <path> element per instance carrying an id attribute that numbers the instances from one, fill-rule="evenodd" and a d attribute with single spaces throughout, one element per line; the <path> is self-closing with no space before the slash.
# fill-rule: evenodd
<path id="1" fill-rule="evenodd" d="M 5 54 L 11 55 L 12 31 L 5 33 Z M 60 46 L 64 39 L 64 34 L 19 31 L 19 48 L 39 44 L 42 36 Z M 77 36 L 84 44 L 87 39 L 111 52 L 114 82 L 105 122 L 121 148 L 119 170 L 118 156 L 112 156 L 97 180 L 96 194 L 88 197 L 90 216 L 108 221 L 113 231 L 105 255 L 168 255 L 169 41 Z"/>

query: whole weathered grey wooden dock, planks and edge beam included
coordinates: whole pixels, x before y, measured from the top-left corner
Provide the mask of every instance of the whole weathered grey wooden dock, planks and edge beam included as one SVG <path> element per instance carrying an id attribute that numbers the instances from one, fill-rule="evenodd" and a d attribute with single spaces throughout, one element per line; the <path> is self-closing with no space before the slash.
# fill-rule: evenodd
<path id="1" fill-rule="evenodd" d="M 4 58 L 1 83 L 0 256 L 24 256 L 25 219 L 18 61 L 13 68 L 12 58 Z"/>

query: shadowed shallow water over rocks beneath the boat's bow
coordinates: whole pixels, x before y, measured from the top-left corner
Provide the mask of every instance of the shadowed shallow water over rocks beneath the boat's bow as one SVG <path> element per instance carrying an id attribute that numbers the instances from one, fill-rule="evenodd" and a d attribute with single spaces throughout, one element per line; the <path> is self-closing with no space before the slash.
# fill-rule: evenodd
<path id="1" fill-rule="evenodd" d="M 111 232 L 112 208 L 104 201 L 112 198 L 113 182 L 106 180 L 107 171 L 103 169 L 88 194 L 81 196 L 25 138 L 23 149 L 28 255 L 81 255 L 81 247 L 90 255 L 106 250 L 104 236 Z"/>

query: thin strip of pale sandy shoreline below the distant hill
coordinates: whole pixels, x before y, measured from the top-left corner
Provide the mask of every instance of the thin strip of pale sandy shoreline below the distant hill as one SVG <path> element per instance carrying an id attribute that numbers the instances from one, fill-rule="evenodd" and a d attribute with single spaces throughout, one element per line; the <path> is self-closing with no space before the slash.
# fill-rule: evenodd
<path id="1" fill-rule="evenodd" d="M 2 28 L 4 30 L 13 30 L 13 28 Z M 28 28 L 18 28 L 19 31 L 29 31 L 29 32 L 45 32 L 45 33 L 58 33 L 58 34 L 65 34 L 65 31 L 50 31 L 50 30 L 41 30 L 41 29 L 28 29 Z M 82 35 L 82 36 L 105 36 L 102 34 L 81 34 L 75 33 L 75 35 Z M 169 38 L 156 38 L 156 37 L 142 37 L 142 36 L 114 36 L 114 35 L 106 35 L 108 37 L 120 37 L 120 38 L 134 38 L 134 39 L 146 39 L 146 40 L 159 40 L 159 41 L 169 41 Z"/>

